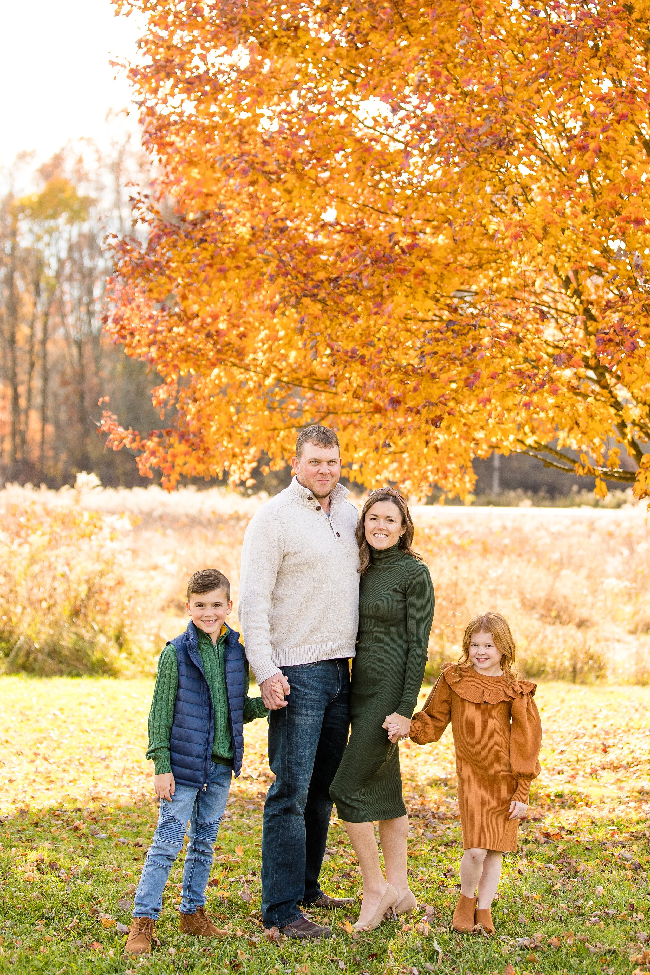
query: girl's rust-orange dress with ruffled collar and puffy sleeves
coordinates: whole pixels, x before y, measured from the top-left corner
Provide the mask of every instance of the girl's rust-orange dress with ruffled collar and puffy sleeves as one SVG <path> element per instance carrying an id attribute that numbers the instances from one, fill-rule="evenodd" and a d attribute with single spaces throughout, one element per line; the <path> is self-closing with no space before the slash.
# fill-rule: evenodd
<path id="1" fill-rule="evenodd" d="M 474 667 L 442 667 L 422 711 L 411 721 L 418 745 L 438 741 L 449 722 L 456 748 L 458 807 L 463 847 L 516 850 L 513 800 L 528 802 L 540 773 L 542 722 L 533 700 L 536 684 L 484 677 Z"/>

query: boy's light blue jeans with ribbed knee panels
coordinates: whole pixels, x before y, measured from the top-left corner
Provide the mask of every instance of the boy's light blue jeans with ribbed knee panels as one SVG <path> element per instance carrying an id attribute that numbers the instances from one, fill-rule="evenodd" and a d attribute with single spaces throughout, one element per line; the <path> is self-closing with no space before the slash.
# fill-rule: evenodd
<path id="1" fill-rule="evenodd" d="M 206 903 L 206 887 L 214 856 L 214 840 L 226 808 L 232 768 L 210 766 L 210 783 L 205 792 L 176 782 L 172 800 L 160 800 L 158 826 L 137 884 L 134 917 L 158 919 L 163 909 L 163 891 L 172 865 L 189 838 L 183 866 L 182 914 L 194 914 Z M 188 828 L 189 821 L 189 828 Z"/>

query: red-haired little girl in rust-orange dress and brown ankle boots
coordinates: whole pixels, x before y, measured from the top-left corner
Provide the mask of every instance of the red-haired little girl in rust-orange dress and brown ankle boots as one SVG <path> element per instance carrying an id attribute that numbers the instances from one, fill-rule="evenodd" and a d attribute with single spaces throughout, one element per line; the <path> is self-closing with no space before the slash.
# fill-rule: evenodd
<path id="1" fill-rule="evenodd" d="M 516 680 L 508 623 L 499 613 L 487 612 L 467 627 L 463 656 L 455 666 L 443 665 L 424 710 L 411 722 L 410 737 L 418 745 L 438 741 L 451 722 L 465 849 L 452 922 L 456 931 L 480 924 L 494 933 L 490 908 L 501 877 L 501 854 L 516 850 L 530 782 L 540 773 L 542 724 L 535 689 L 534 683 Z"/>

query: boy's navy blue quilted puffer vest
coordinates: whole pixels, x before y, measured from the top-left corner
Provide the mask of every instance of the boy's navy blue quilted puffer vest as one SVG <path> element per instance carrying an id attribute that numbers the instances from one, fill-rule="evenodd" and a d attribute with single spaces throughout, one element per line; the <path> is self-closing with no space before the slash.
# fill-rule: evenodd
<path id="1" fill-rule="evenodd" d="M 178 690 L 170 738 L 173 778 L 183 785 L 205 789 L 210 782 L 214 707 L 210 687 L 203 672 L 199 638 L 192 620 L 187 624 L 185 632 L 174 637 L 170 643 L 176 648 L 178 661 Z M 239 642 L 239 633 L 229 626 L 221 646 L 225 655 L 228 719 L 237 778 L 244 758 L 244 647 Z"/>

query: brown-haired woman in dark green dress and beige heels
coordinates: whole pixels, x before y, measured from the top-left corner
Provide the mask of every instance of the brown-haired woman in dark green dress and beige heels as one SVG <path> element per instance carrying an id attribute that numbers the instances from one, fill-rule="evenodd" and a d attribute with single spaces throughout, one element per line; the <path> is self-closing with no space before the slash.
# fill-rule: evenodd
<path id="1" fill-rule="evenodd" d="M 434 587 L 429 569 L 411 549 L 412 540 L 413 522 L 401 494 L 392 487 L 373 491 L 357 526 L 362 578 L 352 665 L 352 734 L 329 790 L 362 869 L 358 930 L 377 927 L 388 911 L 410 914 L 417 904 L 406 877 L 408 816 L 397 742 L 410 733 L 424 677 Z"/>

